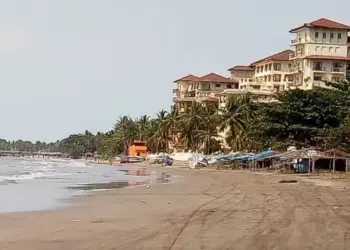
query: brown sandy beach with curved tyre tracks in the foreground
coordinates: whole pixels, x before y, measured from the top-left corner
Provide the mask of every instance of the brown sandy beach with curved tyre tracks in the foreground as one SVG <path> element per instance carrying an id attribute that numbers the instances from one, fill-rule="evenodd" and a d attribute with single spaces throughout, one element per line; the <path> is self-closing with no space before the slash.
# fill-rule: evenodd
<path id="1" fill-rule="evenodd" d="M 344 180 L 164 171 L 183 178 L 92 192 L 65 210 L 0 215 L 0 249 L 350 249 Z"/>

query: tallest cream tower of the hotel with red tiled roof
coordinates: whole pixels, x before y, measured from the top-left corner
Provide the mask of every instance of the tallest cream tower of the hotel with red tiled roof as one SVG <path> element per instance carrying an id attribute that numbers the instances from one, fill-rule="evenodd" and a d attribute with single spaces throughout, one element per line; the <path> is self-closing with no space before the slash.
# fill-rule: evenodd
<path id="1" fill-rule="evenodd" d="M 323 81 L 346 78 L 349 62 L 350 26 L 321 18 L 290 30 L 295 54 L 290 73 L 293 86 L 301 89 L 325 87 Z"/>

